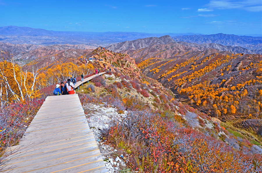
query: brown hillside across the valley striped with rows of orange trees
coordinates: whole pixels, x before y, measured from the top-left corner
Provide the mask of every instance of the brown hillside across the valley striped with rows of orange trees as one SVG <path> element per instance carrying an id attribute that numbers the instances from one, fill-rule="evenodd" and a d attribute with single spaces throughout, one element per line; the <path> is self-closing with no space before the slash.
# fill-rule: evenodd
<path id="1" fill-rule="evenodd" d="M 139 45 L 137 41 L 133 43 Z M 114 48 L 128 48 L 123 44 Z M 219 118 L 242 137 L 261 141 L 261 55 L 232 54 L 233 46 L 213 43 L 173 42 L 137 50 L 132 47 L 121 52 L 135 58 L 143 74 L 171 89 L 181 102 Z"/>

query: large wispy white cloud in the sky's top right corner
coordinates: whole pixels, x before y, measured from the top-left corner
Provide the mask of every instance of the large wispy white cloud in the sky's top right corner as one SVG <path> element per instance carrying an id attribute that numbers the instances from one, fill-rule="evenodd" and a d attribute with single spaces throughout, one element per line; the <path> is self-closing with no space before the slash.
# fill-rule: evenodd
<path id="1" fill-rule="evenodd" d="M 211 9 L 241 9 L 250 12 L 262 11 L 261 0 L 211 0 L 207 6 Z"/>

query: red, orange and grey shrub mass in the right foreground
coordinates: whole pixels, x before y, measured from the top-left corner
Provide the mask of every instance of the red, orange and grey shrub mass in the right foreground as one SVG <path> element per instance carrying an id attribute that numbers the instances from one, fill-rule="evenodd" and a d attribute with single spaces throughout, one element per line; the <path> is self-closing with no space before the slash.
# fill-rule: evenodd
<path id="1" fill-rule="evenodd" d="M 116 147 L 121 141 L 121 153 L 132 155 L 127 165 L 134 171 L 262 171 L 261 156 L 250 157 L 236 152 L 213 137 L 178 127 L 167 116 L 161 117 L 148 110 L 129 111 L 127 117 L 103 131 L 103 136 Z"/>

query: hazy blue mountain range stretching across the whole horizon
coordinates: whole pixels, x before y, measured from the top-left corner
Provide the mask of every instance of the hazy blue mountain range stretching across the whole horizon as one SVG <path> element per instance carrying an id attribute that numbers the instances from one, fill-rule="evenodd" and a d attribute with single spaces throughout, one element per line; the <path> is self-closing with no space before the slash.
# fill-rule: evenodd
<path id="1" fill-rule="evenodd" d="M 262 37 L 229 34 L 203 35 L 199 33 L 137 33 L 137 32 L 70 32 L 52 31 L 29 27 L 0 27 L 0 42 L 12 44 L 85 44 L 88 46 L 110 46 L 115 43 L 170 35 L 176 42 L 196 44 L 216 43 L 224 46 L 241 46 L 254 53 L 261 53 Z"/>

